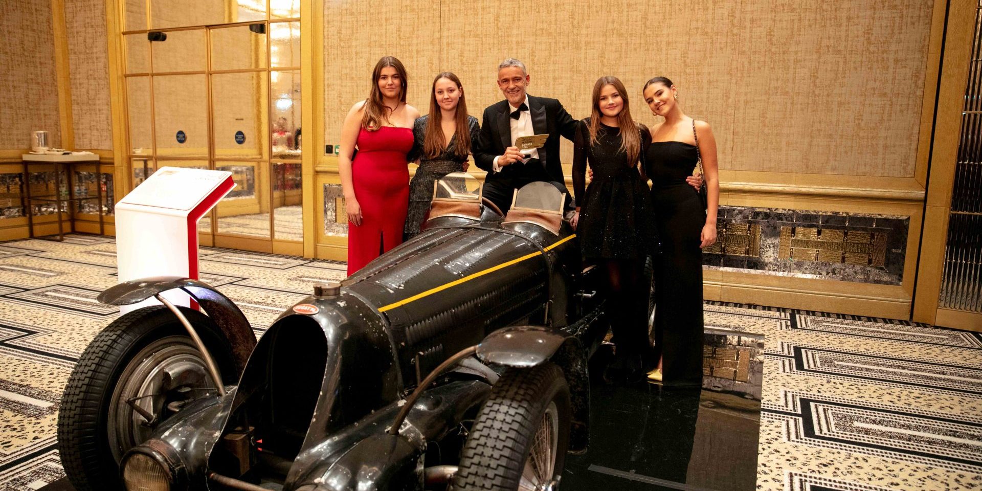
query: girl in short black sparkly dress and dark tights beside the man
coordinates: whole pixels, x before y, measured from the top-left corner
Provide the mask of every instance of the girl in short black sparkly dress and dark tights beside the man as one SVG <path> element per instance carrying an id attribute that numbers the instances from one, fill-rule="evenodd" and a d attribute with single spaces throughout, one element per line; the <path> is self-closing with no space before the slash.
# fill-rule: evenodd
<path id="1" fill-rule="evenodd" d="M 593 86 L 592 115 L 579 123 L 573 142 L 573 227 L 583 257 L 604 268 L 617 347 L 604 376 L 643 377 L 648 347 L 644 258 L 655 244 L 648 187 L 639 165 L 650 137 L 634 123 L 624 83 L 601 77 Z M 592 181 L 584 191 L 586 165 Z"/>

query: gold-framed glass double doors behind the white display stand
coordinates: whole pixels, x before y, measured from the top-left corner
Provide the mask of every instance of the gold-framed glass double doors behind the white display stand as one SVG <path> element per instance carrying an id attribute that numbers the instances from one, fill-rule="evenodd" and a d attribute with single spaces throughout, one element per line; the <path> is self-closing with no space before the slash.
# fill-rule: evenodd
<path id="1" fill-rule="evenodd" d="M 300 2 L 183 3 L 127 0 L 134 185 L 164 166 L 231 172 L 201 245 L 299 255 Z"/>

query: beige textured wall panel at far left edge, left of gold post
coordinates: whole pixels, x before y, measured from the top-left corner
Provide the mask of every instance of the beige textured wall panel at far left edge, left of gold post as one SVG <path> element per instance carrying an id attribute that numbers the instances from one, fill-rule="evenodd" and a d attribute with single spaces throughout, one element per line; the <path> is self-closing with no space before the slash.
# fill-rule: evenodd
<path id="1" fill-rule="evenodd" d="M 50 0 L 0 2 L 0 148 L 27 148 L 46 130 L 61 144 Z"/>

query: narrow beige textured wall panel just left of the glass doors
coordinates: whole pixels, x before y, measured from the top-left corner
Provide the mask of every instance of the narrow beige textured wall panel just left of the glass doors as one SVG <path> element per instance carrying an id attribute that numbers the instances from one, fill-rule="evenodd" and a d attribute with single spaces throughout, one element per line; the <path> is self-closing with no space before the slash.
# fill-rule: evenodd
<path id="1" fill-rule="evenodd" d="M 106 2 L 66 0 L 65 25 L 75 147 L 112 149 Z"/>

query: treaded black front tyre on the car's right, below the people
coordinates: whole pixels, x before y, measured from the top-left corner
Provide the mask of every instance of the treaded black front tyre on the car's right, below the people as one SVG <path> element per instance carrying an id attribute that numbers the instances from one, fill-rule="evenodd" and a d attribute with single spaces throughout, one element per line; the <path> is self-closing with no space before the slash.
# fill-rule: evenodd
<path id="1" fill-rule="evenodd" d="M 570 447 L 570 421 L 570 387 L 559 366 L 507 371 L 477 413 L 454 489 L 554 489 Z"/>

